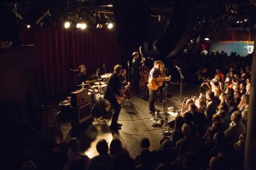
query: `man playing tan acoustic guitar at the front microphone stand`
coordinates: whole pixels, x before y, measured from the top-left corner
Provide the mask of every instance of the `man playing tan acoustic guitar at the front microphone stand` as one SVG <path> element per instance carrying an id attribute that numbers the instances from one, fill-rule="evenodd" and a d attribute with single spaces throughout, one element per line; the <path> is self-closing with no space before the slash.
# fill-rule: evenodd
<path id="1" fill-rule="evenodd" d="M 154 107 L 157 98 L 157 90 L 163 85 L 163 82 L 170 81 L 170 77 L 166 77 L 164 72 L 164 63 L 160 60 L 154 61 L 154 67 L 149 72 L 148 88 L 149 88 L 149 113 L 154 114 L 157 111 Z"/>

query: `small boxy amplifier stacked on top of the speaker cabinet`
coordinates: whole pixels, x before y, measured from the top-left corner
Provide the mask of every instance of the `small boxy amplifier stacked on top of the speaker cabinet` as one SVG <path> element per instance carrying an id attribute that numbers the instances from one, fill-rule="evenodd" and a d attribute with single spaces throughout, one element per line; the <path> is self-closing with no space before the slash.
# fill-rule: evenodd
<path id="1" fill-rule="evenodd" d="M 90 102 L 87 89 L 83 89 L 83 90 L 80 89 L 80 90 L 74 91 L 70 95 L 71 95 L 71 105 L 73 107 L 79 107 L 81 105 L 85 105 Z"/>

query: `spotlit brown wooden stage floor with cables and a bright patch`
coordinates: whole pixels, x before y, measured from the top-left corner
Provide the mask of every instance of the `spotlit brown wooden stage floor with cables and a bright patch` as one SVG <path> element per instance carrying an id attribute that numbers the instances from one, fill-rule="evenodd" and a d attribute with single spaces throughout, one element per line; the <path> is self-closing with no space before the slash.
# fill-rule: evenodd
<path id="1" fill-rule="evenodd" d="M 184 97 L 197 96 L 200 93 L 198 86 L 183 84 L 182 99 Z M 169 122 L 172 117 L 168 112 L 168 107 L 173 107 L 173 112 L 180 111 L 180 85 L 169 84 L 167 88 L 166 97 L 166 112 L 164 113 L 164 103 L 160 102 L 156 104 L 156 109 L 160 110 L 161 126 L 152 126 L 152 119 L 154 115 L 149 114 L 148 100 L 143 96 L 132 94 L 131 101 L 125 101 L 122 106 L 119 123 L 123 126 L 119 132 L 110 130 L 109 125 L 110 118 L 97 119 L 92 118 L 90 122 L 86 122 L 85 125 L 79 127 L 72 127 L 70 122 L 61 123 L 61 132 L 64 134 L 64 140 L 76 137 L 80 139 L 83 150 L 90 158 L 98 155 L 96 151 L 96 143 L 100 139 L 106 139 L 108 145 L 112 139 L 120 139 L 123 147 L 129 150 L 131 157 L 135 158 L 140 151 L 140 141 L 143 137 L 147 137 L 150 140 L 150 150 L 158 150 L 160 148 L 160 139 L 164 136 L 169 136 L 170 133 L 162 133 L 166 130 L 166 122 Z"/>

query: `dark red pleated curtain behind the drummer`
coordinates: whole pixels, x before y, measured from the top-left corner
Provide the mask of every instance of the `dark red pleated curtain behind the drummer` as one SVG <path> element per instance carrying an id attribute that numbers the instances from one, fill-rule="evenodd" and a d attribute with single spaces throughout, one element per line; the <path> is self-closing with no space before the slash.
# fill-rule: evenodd
<path id="1" fill-rule="evenodd" d="M 36 48 L 40 99 L 73 91 L 78 72 L 70 69 L 84 64 L 89 75 L 96 73 L 96 69 L 102 75 L 103 63 L 107 72 L 113 72 L 113 66 L 122 61 L 114 30 L 20 29 L 20 44 L 33 44 Z"/>

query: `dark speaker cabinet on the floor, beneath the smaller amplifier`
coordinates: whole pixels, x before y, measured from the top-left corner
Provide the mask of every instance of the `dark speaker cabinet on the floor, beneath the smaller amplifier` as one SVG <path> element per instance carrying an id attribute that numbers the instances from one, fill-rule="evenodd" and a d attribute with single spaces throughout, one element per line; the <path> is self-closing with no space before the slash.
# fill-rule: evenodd
<path id="1" fill-rule="evenodd" d="M 81 105 L 79 107 L 72 107 L 72 110 L 73 111 L 71 117 L 73 124 L 81 124 L 83 122 L 86 122 L 92 116 L 90 103 Z"/>

